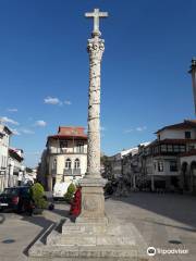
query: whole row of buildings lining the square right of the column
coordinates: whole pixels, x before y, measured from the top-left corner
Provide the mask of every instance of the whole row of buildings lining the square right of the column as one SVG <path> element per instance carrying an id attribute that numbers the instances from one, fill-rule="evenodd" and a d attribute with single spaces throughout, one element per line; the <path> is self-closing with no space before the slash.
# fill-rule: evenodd
<path id="1" fill-rule="evenodd" d="M 164 126 L 156 135 L 152 142 L 109 157 L 110 175 L 123 177 L 133 190 L 196 194 L 196 121 Z"/>

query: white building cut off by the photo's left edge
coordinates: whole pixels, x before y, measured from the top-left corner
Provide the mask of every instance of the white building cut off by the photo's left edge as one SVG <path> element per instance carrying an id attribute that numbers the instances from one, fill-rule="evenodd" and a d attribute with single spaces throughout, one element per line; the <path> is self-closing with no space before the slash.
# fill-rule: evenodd
<path id="1" fill-rule="evenodd" d="M 8 186 L 8 160 L 11 135 L 10 128 L 0 124 L 0 191 Z"/>

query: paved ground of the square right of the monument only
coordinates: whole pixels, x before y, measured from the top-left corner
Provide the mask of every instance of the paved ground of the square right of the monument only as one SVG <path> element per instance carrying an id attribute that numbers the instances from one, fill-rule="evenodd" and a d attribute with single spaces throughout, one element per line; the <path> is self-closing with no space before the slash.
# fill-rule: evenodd
<path id="1" fill-rule="evenodd" d="M 185 195 L 135 192 L 113 198 L 106 209 L 118 219 L 132 221 L 150 247 L 187 249 L 188 254 L 156 254 L 156 261 L 196 260 L 196 198 Z"/>

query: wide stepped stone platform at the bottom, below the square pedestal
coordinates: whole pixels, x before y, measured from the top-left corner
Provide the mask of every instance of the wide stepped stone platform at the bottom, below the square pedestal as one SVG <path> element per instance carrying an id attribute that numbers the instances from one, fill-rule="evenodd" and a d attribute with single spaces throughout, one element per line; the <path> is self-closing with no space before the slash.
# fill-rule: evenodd
<path id="1" fill-rule="evenodd" d="M 46 234 L 48 234 L 46 232 Z M 147 261 L 147 245 L 132 223 L 108 219 L 105 226 L 66 221 L 41 236 L 28 250 L 28 261 Z"/>

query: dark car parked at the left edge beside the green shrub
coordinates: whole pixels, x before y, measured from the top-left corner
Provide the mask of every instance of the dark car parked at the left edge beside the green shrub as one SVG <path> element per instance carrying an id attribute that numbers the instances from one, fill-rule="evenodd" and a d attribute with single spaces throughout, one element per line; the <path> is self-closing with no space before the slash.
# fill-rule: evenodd
<path id="1" fill-rule="evenodd" d="M 10 209 L 15 212 L 33 213 L 35 206 L 30 196 L 30 187 L 5 188 L 0 195 L 0 210 Z"/>

